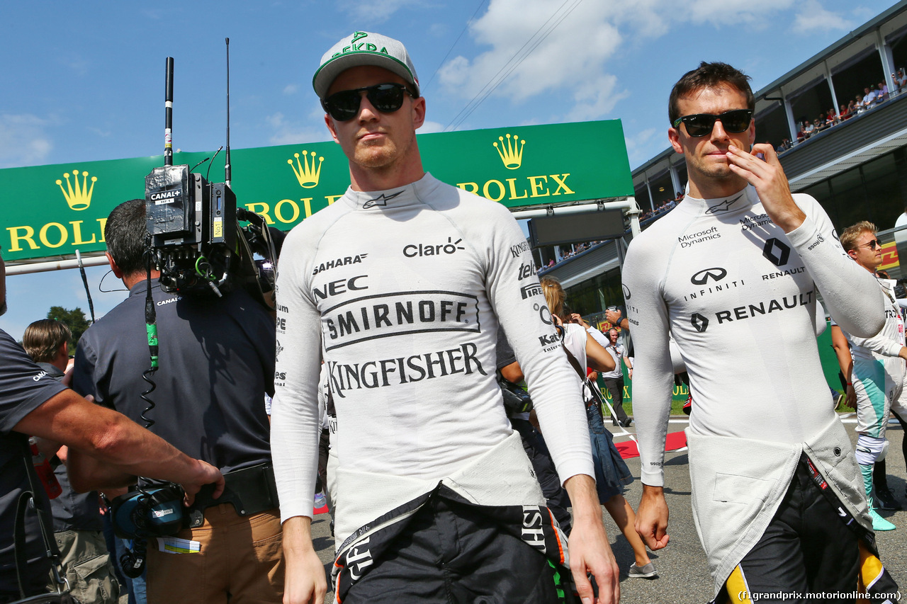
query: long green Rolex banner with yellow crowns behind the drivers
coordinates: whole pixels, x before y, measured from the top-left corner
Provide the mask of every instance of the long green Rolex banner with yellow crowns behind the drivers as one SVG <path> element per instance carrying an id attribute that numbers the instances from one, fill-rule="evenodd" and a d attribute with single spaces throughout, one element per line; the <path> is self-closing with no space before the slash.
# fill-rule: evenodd
<path id="1" fill-rule="evenodd" d="M 435 178 L 508 208 L 633 194 L 619 120 L 418 135 Z M 195 164 L 212 152 L 177 152 Z M 349 169 L 333 141 L 231 151 L 237 205 L 288 230 L 343 195 Z M 224 154 L 194 171 L 223 180 Z M 111 210 L 145 196 L 145 176 L 163 156 L 0 170 L 0 246 L 7 261 L 105 249 Z"/>

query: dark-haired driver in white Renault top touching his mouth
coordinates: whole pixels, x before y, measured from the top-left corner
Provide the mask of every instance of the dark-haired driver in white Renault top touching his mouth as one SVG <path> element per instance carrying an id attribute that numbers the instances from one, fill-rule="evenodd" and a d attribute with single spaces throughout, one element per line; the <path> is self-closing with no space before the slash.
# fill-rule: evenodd
<path id="1" fill-rule="evenodd" d="M 636 348 L 637 530 L 653 550 L 668 543 L 670 334 L 694 393 L 693 517 L 717 598 L 852 592 L 861 571 L 864 585 L 888 587 L 881 564 L 861 565 L 861 547 L 875 560 L 872 522 L 814 336 L 817 290 L 863 337 L 883 326 L 882 295 L 819 203 L 791 195 L 771 145 L 754 146 L 747 80 L 701 63 L 675 84 L 668 138 L 687 163 L 687 196 L 632 241 L 622 270 Z"/>

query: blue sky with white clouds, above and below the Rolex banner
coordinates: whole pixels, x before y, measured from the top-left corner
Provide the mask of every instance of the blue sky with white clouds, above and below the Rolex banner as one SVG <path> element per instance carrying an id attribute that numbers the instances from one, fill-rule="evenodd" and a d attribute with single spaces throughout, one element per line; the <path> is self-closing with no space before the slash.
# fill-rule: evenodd
<path id="1" fill-rule="evenodd" d="M 217 149 L 225 138 L 225 36 L 231 146 L 325 141 L 311 76 L 321 54 L 356 30 L 406 44 L 427 101 L 422 132 L 620 119 L 635 167 L 668 147 L 668 93 L 699 61 L 734 64 L 757 90 L 890 5 L 7 2 L 0 22 L 0 168 L 161 154 L 167 56 L 176 63 L 174 147 Z M 124 297 L 98 292 L 104 272 L 88 271 L 99 317 Z M 105 289 L 119 286 L 112 276 L 104 281 Z M 87 313 L 77 270 L 10 277 L 6 287 L 9 312 L 0 328 L 16 338 L 51 306 Z"/>

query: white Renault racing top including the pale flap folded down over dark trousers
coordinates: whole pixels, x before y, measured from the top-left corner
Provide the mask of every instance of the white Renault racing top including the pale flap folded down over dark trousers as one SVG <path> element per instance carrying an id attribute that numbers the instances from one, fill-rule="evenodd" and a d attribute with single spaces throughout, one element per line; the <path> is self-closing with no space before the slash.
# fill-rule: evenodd
<path id="1" fill-rule="evenodd" d="M 883 326 L 882 292 L 846 255 L 818 202 L 794 198 L 806 219 L 785 234 L 753 187 L 717 200 L 688 196 L 633 240 L 622 271 L 641 479 L 664 484 L 670 333 L 693 393 L 693 517 L 716 593 L 762 536 L 803 453 L 869 526 L 819 361 L 815 296 L 820 289 L 842 328 L 865 337 Z"/>

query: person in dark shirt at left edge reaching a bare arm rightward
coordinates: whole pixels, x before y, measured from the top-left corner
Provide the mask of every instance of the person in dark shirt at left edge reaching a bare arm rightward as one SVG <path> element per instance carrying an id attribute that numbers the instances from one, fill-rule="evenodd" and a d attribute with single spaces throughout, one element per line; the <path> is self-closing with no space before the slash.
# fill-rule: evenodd
<path id="1" fill-rule="evenodd" d="M 0 315 L 5 312 L 5 266 L 0 258 Z M 180 482 L 191 501 L 203 484 L 223 489 L 217 468 L 180 453 L 126 416 L 76 395 L 34 364 L 22 346 L 0 329 L 0 602 L 46 592 L 47 558 L 34 511 L 25 517 L 24 567 L 14 554 L 13 526 L 20 495 L 29 492 L 26 464 L 31 464 L 31 434 L 68 446 L 70 479 L 75 489 L 89 490 L 99 482 L 126 485 L 136 474 Z M 57 446 L 59 448 L 59 446 Z M 36 507 L 47 511 L 46 493 L 35 492 Z M 22 593 L 24 591 L 24 594 Z"/>

